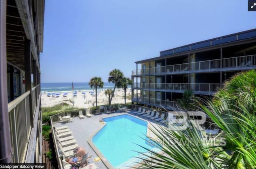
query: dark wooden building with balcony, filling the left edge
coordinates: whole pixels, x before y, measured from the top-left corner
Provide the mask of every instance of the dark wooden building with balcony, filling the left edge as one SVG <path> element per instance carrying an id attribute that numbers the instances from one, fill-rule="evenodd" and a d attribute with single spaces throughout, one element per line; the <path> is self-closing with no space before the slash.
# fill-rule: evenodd
<path id="1" fill-rule="evenodd" d="M 0 163 L 42 163 L 44 0 L 0 0 Z"/>

